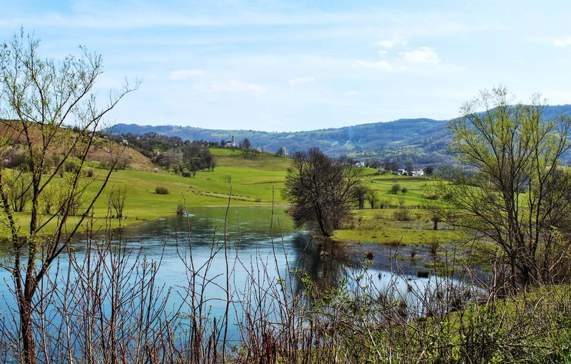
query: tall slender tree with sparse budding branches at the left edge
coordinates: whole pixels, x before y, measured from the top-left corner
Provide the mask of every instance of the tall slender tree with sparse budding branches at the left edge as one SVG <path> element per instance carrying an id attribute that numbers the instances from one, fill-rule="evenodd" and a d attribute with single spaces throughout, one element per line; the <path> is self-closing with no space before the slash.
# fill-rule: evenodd
<path id="1" fill-rule="evenodd" d="M 2 149 L 18 141 L 24 145 L 31 192 L 29 226 L 21 227 L 14 207 L 6 194 L 6 170 L 0 168 L 0 207 L 9 226 L 9 239 L 14 259 L 4 265 L 14 279 L 18 303 L 19 335 L 22 360 L 36 363 L 34 312 L 32 305 L 39 284 L 72 236 L 80 229 L 86 212 L 106 186 L 111 170 L 99 180 L 94 197 L 86 202 L 78 219 L 69 219 L 72 209 L 84 192 L 84 162 L 94 145 L 105 115 L 118 100 L 134 88 L 127 83 L 108 95 L 108 105 L 100 109 L 91 90 L 103 72 L 101 56 L 81 48 L 78 56 L 61 61 L 41 58 L 39 41 L 23 30 L 16 33 L 0 50 L 0 122 Z M 71 128 L 70 128 L 71 126 Z M 51 167 L 49 153 L 61 156 Z M 58 212 L 41 219 L 41 195 L 48 191 L 57 171 L 71 158 L 77 168 L 67 177 L 68 191 Z M 111 157 L 111 164 L 116 163 Z M 45 210 L 43 211 L 45 212 Z M 39 234 L 47 224 L 55 226 L 51 234 Z"/>

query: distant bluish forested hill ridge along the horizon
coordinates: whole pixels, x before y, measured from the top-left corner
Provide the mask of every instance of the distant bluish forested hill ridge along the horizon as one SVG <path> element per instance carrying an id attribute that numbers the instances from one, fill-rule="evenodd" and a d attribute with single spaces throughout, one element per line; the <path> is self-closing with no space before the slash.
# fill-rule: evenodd
<path id="1" fill-rule="evenodd" d="M 571 105 L 549 106 L 545 117 L 564 113 L 571 115 Z M 330 128 L 302 132 L 261 132 L 255 130 L 212 130 L 176 125 L 150 126 L 118 124 L 113 134 L 136 135 L 156 132 L 166 136 L 178 136 L 183 140 L 228 142 L 236 137 L 236 144 L 244 138 L 252 147 L 266 152 L 277 152 L 282 147 L 291 154 L 308 147 L 319 147 L 331 156 L 350 155 L 356 159 L 377 157 L 393 158 L 418 164 L 438 163 L 450 160 L 446 147 L 450 133 L 445 120 L 400 119 L 387 123 L 369 123 L 343 128 Z"/>

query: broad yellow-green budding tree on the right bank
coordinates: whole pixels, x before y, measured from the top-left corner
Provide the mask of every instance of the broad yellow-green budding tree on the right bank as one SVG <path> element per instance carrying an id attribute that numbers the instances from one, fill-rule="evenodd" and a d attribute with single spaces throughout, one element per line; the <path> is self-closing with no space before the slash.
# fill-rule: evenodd
<path id="1" fill-rule="evenodd" d="M 510 103 L 506 88 L 484 90 L 450 121 L 453 150 L 475 171 L 456 174 L 443 195 L 458 209 L 455 224 L 497 244 L 511 288 L 567 279 L 571 174 L 560 167 L 570 148 L 570 118 L 544 120 L 538 96 Z M 436 226 L 437 222 L 435 222 Z"/>

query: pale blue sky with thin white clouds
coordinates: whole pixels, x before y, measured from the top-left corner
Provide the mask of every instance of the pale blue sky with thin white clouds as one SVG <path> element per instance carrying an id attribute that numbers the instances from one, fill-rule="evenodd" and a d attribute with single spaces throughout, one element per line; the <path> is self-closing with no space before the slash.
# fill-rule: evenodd
<path id="1" fill-rule="evenodd" d="M 0 0 L 46 58 L 101 54 L 110 123 L 298 131 L 455 118 L 480 90 L 571 103 L 571 1 Z"/>

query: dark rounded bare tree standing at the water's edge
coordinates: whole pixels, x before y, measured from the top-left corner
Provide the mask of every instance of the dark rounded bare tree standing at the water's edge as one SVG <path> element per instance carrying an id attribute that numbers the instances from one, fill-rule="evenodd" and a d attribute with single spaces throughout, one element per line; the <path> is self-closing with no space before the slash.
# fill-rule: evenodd
<path id="1" fill-rule="evenodd" d="M 318 148 L 310 148 L 293 157 L 282 193 L 291 203 L 297 227 L 330 236 L 348 218 L 360 182 L 360 168 L 340 165 Z"/>

